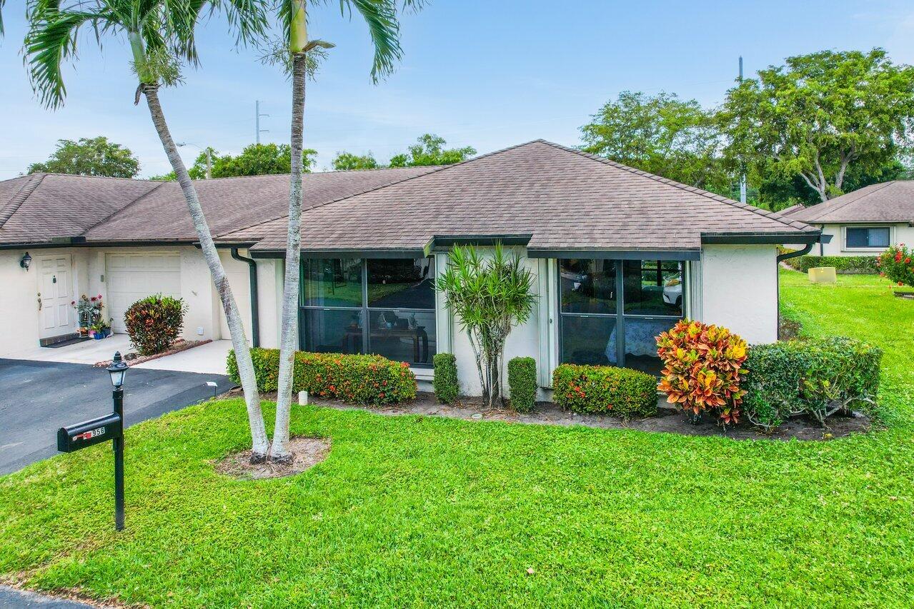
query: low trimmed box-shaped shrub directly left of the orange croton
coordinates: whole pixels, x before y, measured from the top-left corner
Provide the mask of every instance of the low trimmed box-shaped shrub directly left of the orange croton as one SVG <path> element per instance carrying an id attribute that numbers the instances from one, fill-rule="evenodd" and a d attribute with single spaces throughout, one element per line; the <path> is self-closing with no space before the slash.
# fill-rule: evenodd
<path id="1" fill-rule="evenodd" d="M 657 379 L 631 368 L 563 363 L 552 374 L 552 389 L 556 404 L 573 413 L 657 414 Z"/>

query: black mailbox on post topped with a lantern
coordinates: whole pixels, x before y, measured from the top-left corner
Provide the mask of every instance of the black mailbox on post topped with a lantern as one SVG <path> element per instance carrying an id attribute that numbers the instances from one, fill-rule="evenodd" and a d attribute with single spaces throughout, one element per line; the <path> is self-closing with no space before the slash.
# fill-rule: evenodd
<path id="1" fill-rule="evenodd" d="M 114 449 L 114 527 L 123 530 L 123 377 L 127 363 L 121 359 L 121 352 L 114 353 L 114 361 L 108 366 L 111 374 L 112 401 L 114 412 L 76 425 L 58 429 L 58 451 L 71 453 L 87 446 L 112 440 Z"/>

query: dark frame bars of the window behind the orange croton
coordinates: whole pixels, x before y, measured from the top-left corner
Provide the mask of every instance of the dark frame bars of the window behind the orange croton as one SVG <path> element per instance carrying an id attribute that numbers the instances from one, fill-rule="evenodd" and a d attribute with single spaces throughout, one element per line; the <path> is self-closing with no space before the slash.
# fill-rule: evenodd
<path id="1" fill-rule="evenodd" d="M 616 310 L 614 313 L 579 313 L 579 312 L 566 312 L 562 310 L 562 261 L 563 260 L 572 260 L 572 259 L 587 259 L 587 260 L 606 260 L 611 261 L 613 267 L 615 268 L 615 290 L 616 290 L 616 299 L 615 306 Z M 654 260 L 654 258 L 639 258 L 639 261 L 642 263 L 644 261 Z M 670 262 L 671 260 L 657 260 L 659 263 Z M 556 259 L 556 278 L 557 278 L 557 296 L 558 296 L 558 323 L 556 324 L 556 331 L 558 332 L 558 365 L 562 363 L 572 363 L 566 362 L 564 358 L 564 341 L 565 332 L 563 331 L 564 323 L 563 320 L 565 317 L 577 317 L 577 318 L 611 318 L 615 320 L 615 332 L 616 332 L 616 362 L 610 363 L 616 368 L 624 368 L 625 366 L 625 322 L 626 318 L 628 320 L 670 320 L 675 323 L 675 321 L 685 319 L 685 303 L 686 303 L 686 268 L 687 260 L 672 260 L 679 264 L 680 274 L 682 282 L 682 301 L 680 303 L 680 314 L 679 315 L 645 315 L 639 313 L 626 313 L 625 312 L 625 263 L 630 262 L 630 260 L 622 258 L 557 258 Z M 673 324 L 671 324 L 672 326 Z"/>

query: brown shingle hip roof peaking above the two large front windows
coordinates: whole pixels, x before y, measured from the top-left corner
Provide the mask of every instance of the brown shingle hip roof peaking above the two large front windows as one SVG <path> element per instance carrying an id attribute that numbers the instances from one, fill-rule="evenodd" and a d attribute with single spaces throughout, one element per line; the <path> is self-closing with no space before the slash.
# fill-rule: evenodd
<path id="1" fill-rule="evenodd" d="M 310 210 L 303 250 L 415 249 L 433 236 L 532 235 L 537 249 L 698 249 L 703 235 L 800 236 L 812 226 L 537 140 Z M 282 250 L 282 220 L 254 250 Z"/>

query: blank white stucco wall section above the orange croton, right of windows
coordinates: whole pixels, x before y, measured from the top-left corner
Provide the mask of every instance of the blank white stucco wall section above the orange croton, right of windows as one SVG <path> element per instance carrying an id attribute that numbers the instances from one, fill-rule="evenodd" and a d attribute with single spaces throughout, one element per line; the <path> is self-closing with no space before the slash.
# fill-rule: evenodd
<path id="1" fill-rule="evenodd" d="M 703 246 L 701 320 L 726 326 L 749 343 L 778 340 L 778 267 L 774 246 Z"/>

